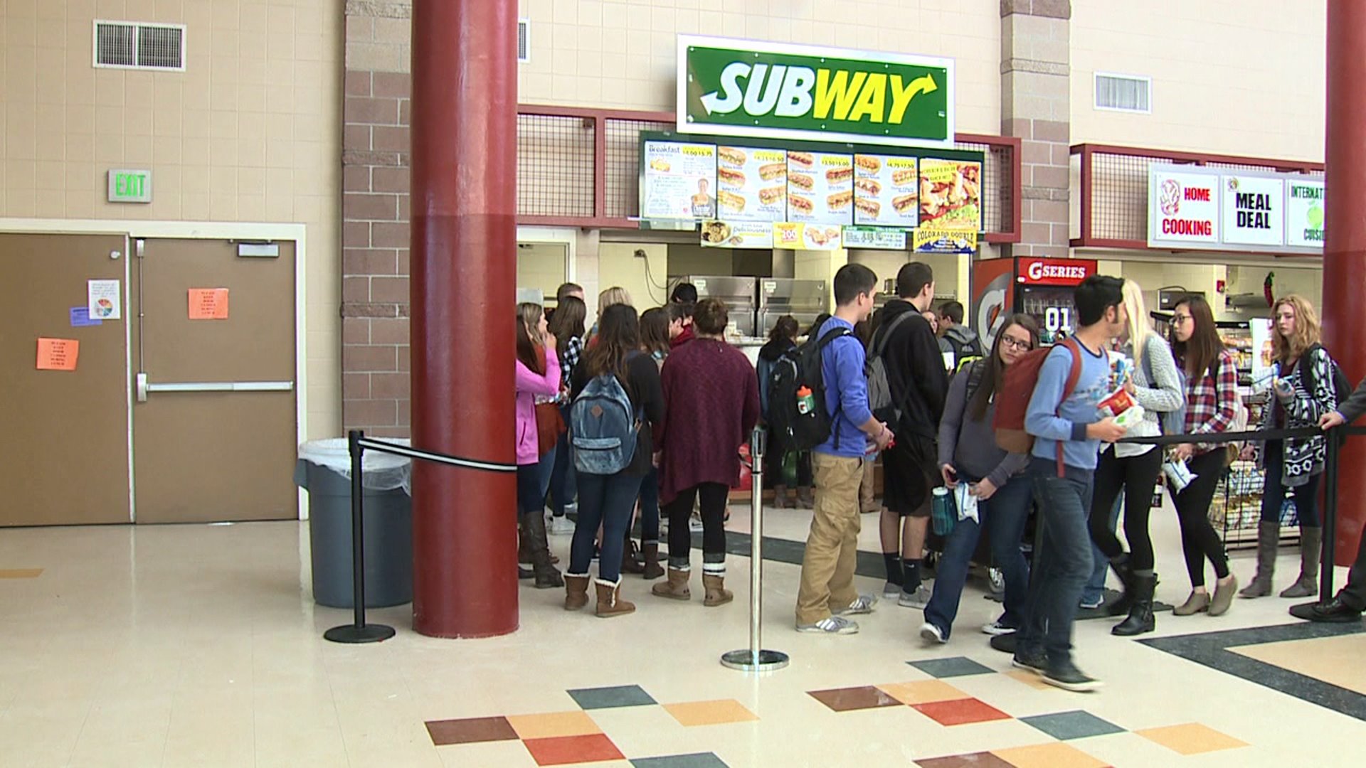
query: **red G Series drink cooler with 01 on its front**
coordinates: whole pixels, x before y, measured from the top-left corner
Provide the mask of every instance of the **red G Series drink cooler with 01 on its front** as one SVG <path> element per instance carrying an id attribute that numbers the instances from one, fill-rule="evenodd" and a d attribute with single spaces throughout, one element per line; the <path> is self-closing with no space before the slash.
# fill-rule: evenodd
<path id="1" fill-rule="evenodd" d="M 988 258 L 973 262 L 971 325 L 990 347 L 1016 312 L 1038 321 L 1040 340 L 1053 344 L 1072 332 L 1072 288 L 1096 275 L 1093 258 Z"/>

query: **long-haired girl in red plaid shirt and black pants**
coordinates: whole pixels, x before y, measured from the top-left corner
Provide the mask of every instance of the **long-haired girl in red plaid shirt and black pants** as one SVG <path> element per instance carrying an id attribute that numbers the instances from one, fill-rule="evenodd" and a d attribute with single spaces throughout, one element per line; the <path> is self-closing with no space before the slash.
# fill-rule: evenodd
<path id="1" fill-rule="evenodd" d="M 1224 348 L 1214 328 L 1214 313 L 1201 297 L 1188 297 L 1172 307 L 1172 354 L 1186 372 L 1186 433 L 1228 432 L 1238 411 L 1238 365 Z M 1194 478 L 1172 502 L 1182 526 L 1182 551 L 1191 579 L 1191 594 L 1172 614 L 1190 616 L 1208 611 L 1218 616 L 1228 611 L 1238 592 L 1238 579 L 1228 570 L 1224 543 L 1209 522 L 1218 478 L 1224 473 L 1227 445 L 1223 443 L 1182 443 L 1172 458 L 1184 461 Z M 1205 589 L 1205 560 L 1214 566 L 1214 597 Z"/>

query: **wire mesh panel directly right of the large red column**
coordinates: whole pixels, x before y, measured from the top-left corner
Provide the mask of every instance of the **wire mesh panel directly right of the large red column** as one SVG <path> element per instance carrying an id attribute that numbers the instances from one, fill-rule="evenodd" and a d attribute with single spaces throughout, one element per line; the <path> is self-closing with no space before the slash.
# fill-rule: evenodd
<path id="1" fill-rule="evenodd" d="M 593 120 L 518 115 L 516 212 L 593 216 Z"/>

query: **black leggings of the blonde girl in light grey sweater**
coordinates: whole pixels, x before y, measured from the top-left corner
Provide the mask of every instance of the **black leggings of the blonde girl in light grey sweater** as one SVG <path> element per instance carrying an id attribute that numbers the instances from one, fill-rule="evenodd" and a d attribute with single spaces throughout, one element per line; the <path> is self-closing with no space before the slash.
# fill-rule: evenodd
<path id="1" fill-rule="evenodd" d="M 1135 571 L 1153 570 L 1153 538 L 1147 534 L 1147 514 L 1153 507 L 1153 488 L 1162 470 L 1162 450 L 1119 458 L 1117 448 L 1101 454 L 1096 465 L 1096 488 L 1091 492 L 1091 541 L 1113 560 L 1124 553 L 1119 537 L 1109 529 L 1109 512 L 1120 489 L 1124 491 L 1124 538 L 1130 547 L 1130 566 Z"/>

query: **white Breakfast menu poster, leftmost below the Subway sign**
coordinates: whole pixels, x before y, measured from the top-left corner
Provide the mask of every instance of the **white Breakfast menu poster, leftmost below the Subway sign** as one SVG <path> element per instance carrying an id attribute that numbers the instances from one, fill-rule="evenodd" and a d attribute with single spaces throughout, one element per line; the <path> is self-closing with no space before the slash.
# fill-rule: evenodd
<path id="1" fill-rule="evenodd" d="M 645 142 L 643 219 L 716 219 L 716 145 Z"/>

